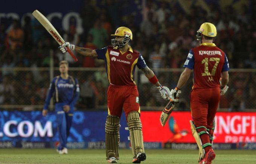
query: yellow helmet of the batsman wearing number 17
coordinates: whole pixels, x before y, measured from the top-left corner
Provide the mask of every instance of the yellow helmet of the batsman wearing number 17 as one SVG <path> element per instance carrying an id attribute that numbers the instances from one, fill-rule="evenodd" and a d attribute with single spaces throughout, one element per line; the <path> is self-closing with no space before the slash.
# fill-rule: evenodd
<path id="1" fill-rule="evenodd" d="M 217 35 L 217 30 L 214 24 L 212 23 L 203 23 L 199 30 L 197 30 L 197 40 L 200 41 L 200 44 L 202 42 L 202 35 L 214 38 Z"/>

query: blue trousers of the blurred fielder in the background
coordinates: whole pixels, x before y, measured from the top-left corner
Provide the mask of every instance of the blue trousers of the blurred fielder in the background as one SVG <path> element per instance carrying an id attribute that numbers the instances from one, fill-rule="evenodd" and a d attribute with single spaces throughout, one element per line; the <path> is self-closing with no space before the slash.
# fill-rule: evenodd
<path id="1" fill-rule="evenodd" d="M 72 112 L 64 112 L 63 110 L 56 110 L 56 107 L 60 107 L 62 105 L 55 104 L 55 112 L 56 112 L 56 120 L 58 124 L 58 132 L 59 132 L 59 142 L 60 145 L 58 147 L 59 150 L 62 150 L 64 147 L 67 147 L 67 137 L 70 134 L 70 128 L 72 125 L 73 113 Z M 71 107 L 70 107 L 71 108 Z M 70 111 L 73 111 L 70 109 Z"/>

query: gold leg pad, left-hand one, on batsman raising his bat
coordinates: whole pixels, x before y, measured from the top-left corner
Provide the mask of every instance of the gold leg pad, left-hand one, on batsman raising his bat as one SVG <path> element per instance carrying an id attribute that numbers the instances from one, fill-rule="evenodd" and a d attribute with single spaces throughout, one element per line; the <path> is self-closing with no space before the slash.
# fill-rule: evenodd
<path id="1" fill-rule="evenodd" d="M 108 115 L 105 124 L 106 133 L 106 159 L 115 157 L 119 159 L 118 143 L 119 143 L 119 122 L 120 118 L 115 115 Z"/>

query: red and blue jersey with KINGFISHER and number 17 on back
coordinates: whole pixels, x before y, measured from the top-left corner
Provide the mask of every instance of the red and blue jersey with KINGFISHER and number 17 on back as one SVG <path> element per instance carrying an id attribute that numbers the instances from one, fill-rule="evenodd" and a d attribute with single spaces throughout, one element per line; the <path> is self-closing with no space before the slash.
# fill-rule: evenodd
<path id="1" fill-rule="evenodd" d="M 229 70 L 229 61 L 214 43 L 202 43 L 189 51 L 183 67 L 194 70 L 193 89 L 216 88 L 221 73 Z"/>

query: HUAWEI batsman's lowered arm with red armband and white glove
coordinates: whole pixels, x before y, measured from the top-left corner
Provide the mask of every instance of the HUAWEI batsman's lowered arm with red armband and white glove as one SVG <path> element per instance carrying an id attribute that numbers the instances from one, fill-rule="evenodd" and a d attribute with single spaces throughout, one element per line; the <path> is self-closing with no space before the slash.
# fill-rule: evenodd
<path id="1" fill-rule="evenodd" d="M 157 87 L 157 89 L 159 90 L 161 96 L 163 99 L 165 100 L 169 100 L 169 96 L 170 96 L 170 90 L 168 87 L 162 86 L 160 84 L 160 82 L 158 82 L 157 77 L 155 76 L 154 72 L 148 68 L 148 66 L 146 65 L 145 60 L 143 59 L 142 55 L 139 55 L 138 61 L 137 61 L 137 67 L 139 69 L 141 69 L 145 76 L 148 78 L 148 80 L 155 85 L 155 87 Z"/>

